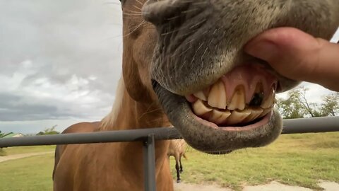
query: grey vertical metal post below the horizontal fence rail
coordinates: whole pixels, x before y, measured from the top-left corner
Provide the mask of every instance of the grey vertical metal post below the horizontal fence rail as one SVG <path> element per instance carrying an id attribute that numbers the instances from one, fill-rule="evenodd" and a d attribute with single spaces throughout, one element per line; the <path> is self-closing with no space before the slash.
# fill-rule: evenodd
<path id="1" fill-rule="evenodd" d="M 154 134 L 149 134 L 143 142 L 143 175 L 145 191 L 155 191 L 155 141 Z"/>

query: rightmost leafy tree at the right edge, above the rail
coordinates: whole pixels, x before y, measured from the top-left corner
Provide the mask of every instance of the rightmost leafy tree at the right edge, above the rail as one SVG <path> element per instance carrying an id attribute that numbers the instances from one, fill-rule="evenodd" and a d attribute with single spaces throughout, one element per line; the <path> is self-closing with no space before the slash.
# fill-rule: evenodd
<path id="1" fill-rule="evenodd" d="M 321 103 L 321 115 L 322 116 L 335 116 L 339 113 L 339 93 L 331 93 L 323 97 L 323 103 Z"/>

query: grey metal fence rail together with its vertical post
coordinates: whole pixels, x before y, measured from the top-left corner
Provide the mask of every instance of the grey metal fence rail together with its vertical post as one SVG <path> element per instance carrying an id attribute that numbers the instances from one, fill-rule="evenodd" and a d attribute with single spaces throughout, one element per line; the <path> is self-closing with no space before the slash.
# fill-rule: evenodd
<path id="1" fill-rule="evenodd" d="M 339 117 L 283 120 L 283 134 L 339 132 Z M 180 139 L 174 127 L 57 134 L 0 139 L 1 147 L 143 141 L 145 190 L 155 191 L 155 140 Z"/>

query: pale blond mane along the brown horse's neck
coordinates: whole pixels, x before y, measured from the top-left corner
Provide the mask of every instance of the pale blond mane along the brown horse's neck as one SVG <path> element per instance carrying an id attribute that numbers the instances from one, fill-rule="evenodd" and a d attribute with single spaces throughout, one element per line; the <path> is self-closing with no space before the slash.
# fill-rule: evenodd
<path id="1" fill-rule="evenodd" d="M 115 93 L 115 99 L 114 99 L 112 110 L 111 112 L 109 112 L 108 115 L 106 115 L 106 117 L 104 117 L 101 120 L 101 127 L 103 130 L 112 129 L 112 126 L 117 120 L 117 117 L 119 115 L 119 110 L 122 105 L 122 99 L 124 98 L 124 91 L 125 91 L 125 83 L 124 83 L 124 79 L 121 76 L 118 82 L 117 91 Z"/>

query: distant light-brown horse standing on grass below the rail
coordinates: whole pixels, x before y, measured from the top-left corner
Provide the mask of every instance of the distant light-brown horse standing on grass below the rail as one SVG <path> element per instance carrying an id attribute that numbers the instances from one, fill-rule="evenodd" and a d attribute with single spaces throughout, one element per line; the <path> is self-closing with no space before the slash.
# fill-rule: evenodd
<path id="1" fill-rule="evenodd" d="M 174 156 L 175 158 L 175 170 L 177 170 L 177 183 L 181 182 L 180 173 L 184 170 L 182 168 L 182 156 L 186 157 L 186 142 L 183 139 L 173 139 L 169 141 L 169 148 L 167 155 Z"/>

